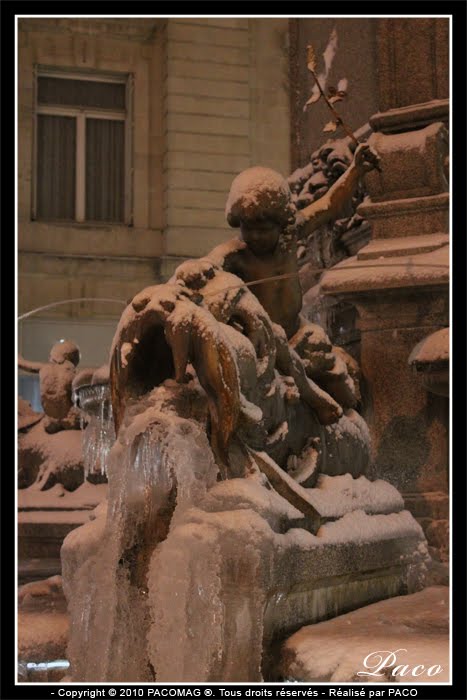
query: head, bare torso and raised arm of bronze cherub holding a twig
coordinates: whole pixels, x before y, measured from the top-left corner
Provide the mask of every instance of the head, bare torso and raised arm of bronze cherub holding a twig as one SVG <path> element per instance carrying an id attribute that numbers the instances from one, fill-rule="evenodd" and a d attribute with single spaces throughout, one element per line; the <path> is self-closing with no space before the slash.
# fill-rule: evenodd
<path id="1" fill-rule="evenodd" d="M 234 179 L 226 216 L 232 227 L 240 228 L 240 237 L 217 246 L 209 258 L 250 286 L 287 338 L 298 331 L 302 308 L 296 226 L 307 222 L 309 230 L 314 230 L 337 218 L 360 178 L 378 163 L 375 151 L 360 144 L 346 172 L 323 197 L 300 212 L 286 180 L 276 171 L 248 168 Z"/>

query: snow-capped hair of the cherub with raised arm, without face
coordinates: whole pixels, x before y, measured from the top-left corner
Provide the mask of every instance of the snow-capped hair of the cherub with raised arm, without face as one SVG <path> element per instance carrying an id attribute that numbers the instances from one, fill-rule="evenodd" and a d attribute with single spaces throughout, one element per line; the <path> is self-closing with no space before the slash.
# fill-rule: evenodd
<path id="1" fill-rule="evenodd" d="M 225 206 L 227 221 L 234 228 L 242 219 L 271 219 L 288 226 L 294 223 L 296 213 L 287 181 L 275 170 L 259 165 L 237 175 Z"/>

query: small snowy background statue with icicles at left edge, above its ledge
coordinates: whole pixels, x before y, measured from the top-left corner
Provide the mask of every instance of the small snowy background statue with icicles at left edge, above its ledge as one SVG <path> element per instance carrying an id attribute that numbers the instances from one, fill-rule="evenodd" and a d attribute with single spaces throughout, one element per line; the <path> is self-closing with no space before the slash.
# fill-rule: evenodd
<path id="1" fill-rule="evenodd" d="M 66 491 L 75 491 L 85 480 L 106 481 L 106 455 L 115 439 L 105 401 L 108 366 L 78 370 L 79 360 L 79 347 L 71 340 L 55 343 L 49 362 L 18 358 L 20 369 L 39 374 L 44 409 L 35 413 L 23 399 L 18 402 L 20 489 L 47 491 L 60 484 Z M 100 389 L 97 415 L 92 402 L 85 401 L 85 392 L 81 392 L 81 405 L 76 401 L 76 390 L 83 386 L 92 386 L 94 395 Z"/>

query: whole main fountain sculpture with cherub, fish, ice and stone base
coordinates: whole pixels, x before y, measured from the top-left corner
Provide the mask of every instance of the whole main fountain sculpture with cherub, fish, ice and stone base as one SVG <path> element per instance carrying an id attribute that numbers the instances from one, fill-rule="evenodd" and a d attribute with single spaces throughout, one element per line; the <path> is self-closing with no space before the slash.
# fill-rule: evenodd
<path id="1" fill-rule="evenodd" d="M 73 680 L 275 680 L 304 624 L 423 587 L 420 526 L 365 476 L 355 362 L 300 316 L 295 226 L 375 164 L 360 146 L 300 214 L 277 173 L 241 173 L 241 236 L 123 312 L 107 506 L 61 553 Z"/>

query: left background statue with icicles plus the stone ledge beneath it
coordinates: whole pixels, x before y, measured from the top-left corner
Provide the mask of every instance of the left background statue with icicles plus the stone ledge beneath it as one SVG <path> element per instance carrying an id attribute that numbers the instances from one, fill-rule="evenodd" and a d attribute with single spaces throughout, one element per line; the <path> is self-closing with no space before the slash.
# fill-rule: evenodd
<path id="1" fill-rule="evenodd" d="M 75 386 L 102 379 L 103 371 L 78 370 L 79 360 L 71 340 L 55 343 L 48 362 L 18 360 L 23 371 L 39 374 L 44 409 L 38 413 L 18 401 L 20 584 L 60 575 L 63 538 L 106 497 L 106 450 L 113 436 L 106 402 L 99 402 L 97 417 L 89 415 L 84 394 L 79 406 L 75 402 Z M 99 386 L 93 385 L 94 393 Z"/>

